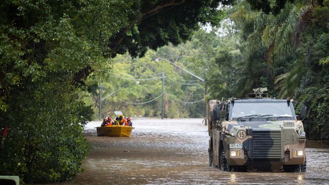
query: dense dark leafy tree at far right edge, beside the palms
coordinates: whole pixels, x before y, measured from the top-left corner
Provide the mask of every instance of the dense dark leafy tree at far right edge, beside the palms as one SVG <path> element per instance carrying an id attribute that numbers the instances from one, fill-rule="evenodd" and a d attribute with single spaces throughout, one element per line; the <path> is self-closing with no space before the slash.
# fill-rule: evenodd
<path id="1" fill-rule="evenodd" d="M 329 15 L 328 8 L 329 1 L 324 1 L 322 7 L 314 9 L 313 19 L 318 22 L 311 23 L 302 37 L 301 49 L 304 51 L 306 72 L 296 89 L 296 96 L 309 108 L 307 126 L 310 136 L 326 140 L 329 133 L 329 76 L 325 61 L 329 52 L 329 23 L 320 20 Z"/>

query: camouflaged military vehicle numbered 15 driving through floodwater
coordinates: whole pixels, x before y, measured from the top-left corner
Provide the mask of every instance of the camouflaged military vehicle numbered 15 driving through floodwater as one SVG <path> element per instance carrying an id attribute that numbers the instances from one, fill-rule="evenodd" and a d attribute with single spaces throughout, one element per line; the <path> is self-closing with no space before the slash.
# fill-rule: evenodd
<path id="1" fill-rule="evenodd" d="M 246 99 L 211 100 L 209 165 L 223 171 L 306 171 L 306 106 L 270 98 L 267 88 Z M 300 104 L 296 115 L 294 104 Z"/>

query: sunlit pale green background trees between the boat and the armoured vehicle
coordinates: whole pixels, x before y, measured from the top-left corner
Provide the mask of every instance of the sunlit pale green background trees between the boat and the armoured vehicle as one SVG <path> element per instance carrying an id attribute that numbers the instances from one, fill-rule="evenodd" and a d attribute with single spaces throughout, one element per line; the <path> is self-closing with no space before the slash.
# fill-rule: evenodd
<path id="1" fill-rule="evenodd" d="M 230 29 L 230 28 L 227 28 Z M 242 55 L 237 49 L 237 40 L 231 36 L 219 36 L 200 29 L 194 32 L 190 41 L 159 48 L 156 52 L 148 50 L 144 57 L 132 59 L 129 55 L 115 57 L 113 72 L 107 79 L 102 79 L 102 97 L 119 89 L 111 97 L 102 102 L 102 117 L 113 115 L 113 111 L 121 110 L 127 115 L 161 116 L 161 99 L 145 105 L 129 105 L 125 102 L 147 102 L 161 94 L 161 79 L 139 80 L 134 78 L 152 78 L 154 76 L 138 77 L 135 75 L 152 75 L 165 72 L 165 117 L 203 117 L 204 102 L 185 104 L 202 99 L 222 99 L 236 96 L 236 79 L 239 74 L 239 63 Z M 155 62 L 155 58 L 163 58 Z M 199 84 L 192 75 L 174 67 L 165 59 L 193 72 L 205 79 L 205 84 Z M 120 79 L 123 78 L 123 79 Z M 194 85 L 186 85 L 192 83 Z M 204 87 L 208 96 L 204 97 Z M 248 89 L 250 91 L 250 89 Z M 146 93 L 147 92 L 147 93 Z M 98 91 L 90 94 L 95 110 L 98 109 Z M 125 102 L 122 102 L 125 101 Z M 98 114 L 97 114 L 98 115 Z M 97 117 L 97 116 L 96 116 Z"/>

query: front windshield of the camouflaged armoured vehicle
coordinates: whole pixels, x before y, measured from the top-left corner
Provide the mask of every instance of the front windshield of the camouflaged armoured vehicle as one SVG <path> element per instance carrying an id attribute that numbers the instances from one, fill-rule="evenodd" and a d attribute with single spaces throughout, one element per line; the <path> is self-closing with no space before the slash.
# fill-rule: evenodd
<path id="1" fill-rule="evenodd" d="M 287 102 L 235 102 L 232 118 L 239 117 L 294 117 L 292 108 Z"/>

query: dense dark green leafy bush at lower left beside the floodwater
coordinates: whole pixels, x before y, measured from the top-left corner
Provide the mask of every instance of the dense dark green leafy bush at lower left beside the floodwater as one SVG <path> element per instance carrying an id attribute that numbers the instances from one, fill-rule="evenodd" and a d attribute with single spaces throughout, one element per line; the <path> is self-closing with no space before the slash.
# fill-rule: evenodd
<path id="1" fill-rule="evenodd" d="M 10 129 L 0 153 L 0 174 L 19 175 L 24 182 L 48 182 L 71 180 L 81 172 L 88 154 L 81 131 L 93 112 L 71 90 L 63 82 L 17 92 L 2 123 Z"/>

